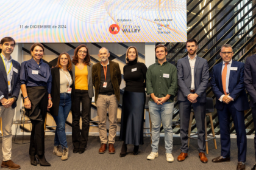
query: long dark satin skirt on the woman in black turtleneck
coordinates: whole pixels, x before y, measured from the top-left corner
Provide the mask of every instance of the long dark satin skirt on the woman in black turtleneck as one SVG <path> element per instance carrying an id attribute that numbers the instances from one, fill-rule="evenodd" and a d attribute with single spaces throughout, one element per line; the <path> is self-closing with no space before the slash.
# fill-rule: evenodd
<path id="1" fill-rule="evenodd" d="M 126 144 L 143 144 L 146 94 L 124 91 L 120 139 Z"/>

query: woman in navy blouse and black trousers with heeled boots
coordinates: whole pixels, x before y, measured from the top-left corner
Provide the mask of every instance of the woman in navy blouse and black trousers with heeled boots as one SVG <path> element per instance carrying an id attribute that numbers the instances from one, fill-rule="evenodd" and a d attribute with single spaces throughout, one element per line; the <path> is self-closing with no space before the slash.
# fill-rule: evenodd
<path id="1" fill-rule="evenodd" d="M 32 123 L 29 156 L 31 165 L 51 166 L 44 157 L 44 121 L 48 108 L 52 107 L 52 75 L 48 64 L 43 63 L 44 47 L 35 43 L 30 48 L 32 58 L 21 64 L 21 91 L 26 115 Z M 37 157 L 37 159 L 36 159 Z"/>

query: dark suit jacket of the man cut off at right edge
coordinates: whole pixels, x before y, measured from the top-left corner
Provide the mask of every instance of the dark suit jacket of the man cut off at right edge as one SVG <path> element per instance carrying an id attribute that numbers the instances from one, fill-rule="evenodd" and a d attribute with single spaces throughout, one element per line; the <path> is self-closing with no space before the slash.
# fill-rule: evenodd
<path id="1" fill-rule="evenodd" d="M 250 95 L 250 106 L 256 107 L 256 55 L 249 56 L 244 65 L 244 86 Z"/>

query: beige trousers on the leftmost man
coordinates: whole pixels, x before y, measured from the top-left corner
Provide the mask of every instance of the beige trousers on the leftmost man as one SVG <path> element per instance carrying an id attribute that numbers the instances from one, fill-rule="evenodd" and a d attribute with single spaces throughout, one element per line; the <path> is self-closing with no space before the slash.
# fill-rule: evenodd
<path id="1" fill-rule="evenodd" d="M 12 124 L 15 109 L 0 106 L 0 117 L 2 117 L 2 160 L 12 159 Z"/>

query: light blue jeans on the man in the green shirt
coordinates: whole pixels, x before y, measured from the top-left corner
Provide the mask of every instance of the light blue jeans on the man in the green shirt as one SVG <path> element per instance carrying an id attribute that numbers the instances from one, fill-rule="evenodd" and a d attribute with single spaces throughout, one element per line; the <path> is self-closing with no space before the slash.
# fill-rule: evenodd
<path id="1" fill-rule="evenodd" d="M 172 153 L 172 115 L 174 103 L 165 102 L 157 105 L 154 101 L 149 101 L 149 113 L 152 122 L 152 152 L 158 152 L 158 143 L 160 138 L 161 120 L 163 129 L 165 129 L 165 152 Z"/>

